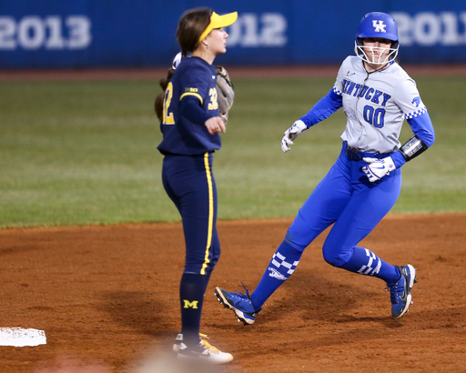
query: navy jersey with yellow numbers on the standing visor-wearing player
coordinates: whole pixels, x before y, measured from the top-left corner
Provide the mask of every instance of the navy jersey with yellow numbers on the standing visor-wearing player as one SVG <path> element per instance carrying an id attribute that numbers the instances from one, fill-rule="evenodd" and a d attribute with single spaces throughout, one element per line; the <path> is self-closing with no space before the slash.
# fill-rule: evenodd
<path id="1" fill-rule="evenodd" d="M 204 125 L 212 116 L 218 116 L 216 68 L 188 55 L 167 86 L 160 124 L 164 138 L 157 149 L 164 155 L 182 156 L 218 150 L 220 135 L 210 135 Z"/>

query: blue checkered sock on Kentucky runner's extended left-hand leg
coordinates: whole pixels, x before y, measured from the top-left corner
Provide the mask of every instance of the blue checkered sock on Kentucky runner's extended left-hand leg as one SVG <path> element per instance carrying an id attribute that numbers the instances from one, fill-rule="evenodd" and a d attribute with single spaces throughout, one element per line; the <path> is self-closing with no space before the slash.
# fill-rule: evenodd
<path id="1" fill-rule="evenodd" d="M 281 284 L 287 280 L 298 266 L 302 252 L 283 241 L 273 255 L 268 267 L 258 283 L 258 287 L 250 295 L 256 309 L 262 307 Z"/>

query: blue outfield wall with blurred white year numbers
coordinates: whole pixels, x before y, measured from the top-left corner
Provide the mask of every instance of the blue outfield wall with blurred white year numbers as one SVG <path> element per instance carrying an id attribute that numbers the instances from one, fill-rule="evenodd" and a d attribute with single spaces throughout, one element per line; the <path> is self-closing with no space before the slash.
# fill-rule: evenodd
<path id="1" fill-rule="evenodd" d="M 339 64 L 370 11 L 397 20 L 403 63 L 466 63 L 464 0 L 0 0 L 0 68 L 169 66 L 179 16 L 200 5 L 238 11 L 228 66 Z"/>

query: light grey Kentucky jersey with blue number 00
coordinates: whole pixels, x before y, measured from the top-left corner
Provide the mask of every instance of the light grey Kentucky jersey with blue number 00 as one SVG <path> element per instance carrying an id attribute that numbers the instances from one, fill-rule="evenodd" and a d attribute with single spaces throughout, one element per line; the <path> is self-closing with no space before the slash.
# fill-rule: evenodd
<path id="1" fill-rule="evenodd" d="M 427 111 L 416 82 L 395 62 L 368 73 L 360 57 L 349 56 L 339 68 L 333 90 L 343 97 L 347 116 L 341 139 L 364 152 L 397 151 L 404 119 Z"/>

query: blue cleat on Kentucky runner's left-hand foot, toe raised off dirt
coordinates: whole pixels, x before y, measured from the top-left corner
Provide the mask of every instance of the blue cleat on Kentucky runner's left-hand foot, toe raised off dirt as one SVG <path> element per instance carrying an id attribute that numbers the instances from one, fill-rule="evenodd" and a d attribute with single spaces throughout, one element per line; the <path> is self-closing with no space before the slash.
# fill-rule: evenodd
<path id="1" fill-rule="evenodd" d="M 216 287 L 214 294 L 223 307 L 229 308 L 235 312 L 238 321 L 241 321 L 244 325 L 251 325 L 254 324 L 254 321 L 258 316 L 258 312 L 262 308 L 254 308 L 247 288 L 245 287 L 244 289 L 246 290 L 246 294 L 239 292 L 235 294 L 229 293 L 221 287 Z"/>

